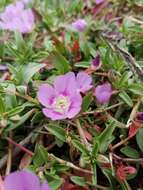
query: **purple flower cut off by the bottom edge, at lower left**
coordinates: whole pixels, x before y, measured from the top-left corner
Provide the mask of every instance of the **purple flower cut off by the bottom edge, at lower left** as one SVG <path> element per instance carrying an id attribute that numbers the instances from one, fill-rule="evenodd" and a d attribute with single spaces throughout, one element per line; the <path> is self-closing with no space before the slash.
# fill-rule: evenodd
<path id="1" fill-rule="evenodd" d="M 38 177 L 29 171 L 17 171 L 4 180 L 4 190 L 50 190 L 48 183 L 40 184 Z"/>

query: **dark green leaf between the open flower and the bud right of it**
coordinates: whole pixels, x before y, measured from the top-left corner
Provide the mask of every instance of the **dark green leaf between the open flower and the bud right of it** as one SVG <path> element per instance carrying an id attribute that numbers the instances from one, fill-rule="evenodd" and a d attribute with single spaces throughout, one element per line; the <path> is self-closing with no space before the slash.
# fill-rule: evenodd
<path id="1" fill-rule="evenodd" d="M 92 102 L 93 94 L 90 92 L 86 96 L 84 96 L 82 101 L 82 111 L 85 112 L 88 110 L 90 103 Z"/>

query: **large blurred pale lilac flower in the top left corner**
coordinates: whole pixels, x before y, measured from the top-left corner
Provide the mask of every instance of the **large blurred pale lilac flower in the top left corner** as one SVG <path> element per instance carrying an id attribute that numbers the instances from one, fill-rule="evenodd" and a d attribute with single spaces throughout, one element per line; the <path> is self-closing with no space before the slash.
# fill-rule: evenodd
<path id="1" fill-rule="evenodd" d="M 31 9 L 25 9 L 22 2 L 8 5 L 0 14 L 0 28 L 10 31 L 29 33 L 34 26 L 34 14 Z"/>

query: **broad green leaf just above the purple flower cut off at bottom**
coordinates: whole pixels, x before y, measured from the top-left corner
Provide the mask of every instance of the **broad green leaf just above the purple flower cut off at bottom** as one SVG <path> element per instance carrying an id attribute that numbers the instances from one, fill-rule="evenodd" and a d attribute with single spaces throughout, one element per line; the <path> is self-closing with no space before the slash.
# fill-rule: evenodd
<path id="1" fill-rule="evenodd" d="M 33 156 L 33 163 L 37 167 L 42 166 L 48 161 L 48 152 L 42 145 L 36 145 L 35 154 Z"/>

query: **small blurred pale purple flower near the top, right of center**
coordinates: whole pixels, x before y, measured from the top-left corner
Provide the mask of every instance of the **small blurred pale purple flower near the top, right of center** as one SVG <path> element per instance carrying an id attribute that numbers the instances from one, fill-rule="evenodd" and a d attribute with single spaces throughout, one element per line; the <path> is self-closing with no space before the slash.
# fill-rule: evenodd
<path id="1" fill-rule="evenodd" d="M 86 26 L 87 26 L 87 23 L 84 19 L 78 19 L 72 23 L 72 27 L 79 32 L 83 32 Z"/>

